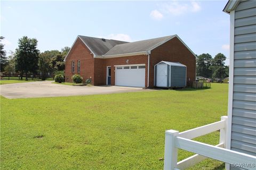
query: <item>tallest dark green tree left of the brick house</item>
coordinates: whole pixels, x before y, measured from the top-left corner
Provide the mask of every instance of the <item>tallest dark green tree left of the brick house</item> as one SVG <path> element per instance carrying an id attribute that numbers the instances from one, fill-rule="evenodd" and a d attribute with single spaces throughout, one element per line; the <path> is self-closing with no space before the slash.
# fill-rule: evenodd
<path id="1" fill-rule="evenodd" d="M 15 69 L 20 71 L 21 79 L 23 73 L 25 73 L 26 80 L 28 80 L 28 72 L 36 73 L 38 69 L 39 50 L 37 49 L 37 39 L 28 38 L 27 36 L 20 38 L 16 54 Z"/>

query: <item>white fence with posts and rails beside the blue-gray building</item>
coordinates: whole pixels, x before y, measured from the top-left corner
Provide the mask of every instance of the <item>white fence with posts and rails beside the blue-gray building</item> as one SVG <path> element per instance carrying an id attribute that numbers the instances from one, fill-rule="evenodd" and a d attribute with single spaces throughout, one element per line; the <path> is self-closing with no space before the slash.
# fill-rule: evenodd
<path id="1" fill-rule="evenodd" d="M 220 142 L 217 146 L 191 140 L 193 138 L 220 130 Z M 227 134 L 227 116 L 222 116 L 221 121 L 204 125 L 195 129 L 179 133 L 175 130 L 165 131 L 164 169 L 186 169 L 193 166 L 207 157 L 220 160 L 228 164 L 255 165 L 256 157 L 241 152 L 225 149 Z M 177 163 L 178 148 L 194 152 L 189 158 Z M 248 166 L 247 169 L 254 169 Z"/>

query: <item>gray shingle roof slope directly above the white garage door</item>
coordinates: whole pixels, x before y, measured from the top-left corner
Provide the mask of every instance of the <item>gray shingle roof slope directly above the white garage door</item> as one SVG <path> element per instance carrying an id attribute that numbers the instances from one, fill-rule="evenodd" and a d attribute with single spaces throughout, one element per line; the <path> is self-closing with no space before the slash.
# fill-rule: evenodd
<path id="1" fill-rule="evenodd" d="M 108 55 L 118 55 L 118 54 L 126 54 L 126 53 L 134 53 L 134 52 L 145 52 L 150 50 L 151 48 L 175 37 L 174 36 L 167 36 L 167 37 L 160 37 L 154 39 L 147 39 L 142 41 L 135 41 L 132 43 L 124 43 L 119 44 L 111 48 L 105 56 Z"/>

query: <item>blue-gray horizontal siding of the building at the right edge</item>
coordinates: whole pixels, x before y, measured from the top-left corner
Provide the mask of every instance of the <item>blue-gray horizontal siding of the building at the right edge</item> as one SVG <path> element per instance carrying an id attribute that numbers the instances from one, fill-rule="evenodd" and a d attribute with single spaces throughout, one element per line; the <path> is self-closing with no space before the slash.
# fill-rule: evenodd
<path id="1" fill-rule="evenodd" d="M 231 150 L 256 156 L 256 1 L 235 9 Z"/>

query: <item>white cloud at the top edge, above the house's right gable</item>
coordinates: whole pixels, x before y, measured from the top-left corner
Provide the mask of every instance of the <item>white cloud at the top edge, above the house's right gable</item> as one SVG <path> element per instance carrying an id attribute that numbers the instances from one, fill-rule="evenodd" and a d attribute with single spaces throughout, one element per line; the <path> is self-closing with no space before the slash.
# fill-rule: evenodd
<path id="1" fill-rule="evenodd" d="M 182 1 L 173 1 L 170 3 L 162 4 L 162 10 L 165 13 L 169 13 L 171 15 L 182 15 L 185 13 L 198 12 L 201 10 L 201 6 L 198 2 L 190 1 L 190 3 L 182 2 Z"/>

